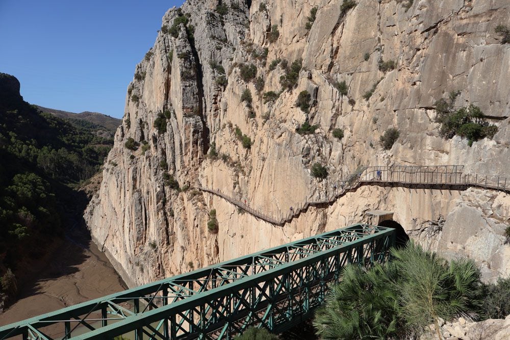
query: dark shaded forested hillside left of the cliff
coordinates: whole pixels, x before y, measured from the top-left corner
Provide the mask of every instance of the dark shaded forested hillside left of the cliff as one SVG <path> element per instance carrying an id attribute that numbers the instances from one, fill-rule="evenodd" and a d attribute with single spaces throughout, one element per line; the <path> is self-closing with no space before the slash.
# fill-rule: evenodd
<path id="1" fill-rule="evenodd" d="M 12 272 L 45 255 L 79 221 L 87 202 L 77 188 L 113 145 L 93 124 L 42 113 L 23 101 L 19 87 L 0 73 L 0 293 L 10 295 Z"/>

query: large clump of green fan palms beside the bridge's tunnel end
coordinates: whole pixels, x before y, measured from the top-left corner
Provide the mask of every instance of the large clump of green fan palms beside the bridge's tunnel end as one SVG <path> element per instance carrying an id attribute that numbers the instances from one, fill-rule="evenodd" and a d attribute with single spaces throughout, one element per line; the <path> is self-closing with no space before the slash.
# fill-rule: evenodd
<path id="1" fill-rule="evenodd" d="M 369 269 L 350 265 L 331 289 L 314 326 L 322 339 L 407 338 L 439 318 L 479 319 L 480 272 L 470 260 L 448 262 L 409 243 L 392 249 L 393 261 Z"/>

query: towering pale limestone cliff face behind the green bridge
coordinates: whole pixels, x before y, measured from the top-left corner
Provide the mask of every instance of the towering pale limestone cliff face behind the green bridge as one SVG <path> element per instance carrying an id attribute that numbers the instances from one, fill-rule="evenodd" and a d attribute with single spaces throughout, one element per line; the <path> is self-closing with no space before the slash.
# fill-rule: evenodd
<path id="1" fill-rule="evenodd" d="M 394 211 L 431 249 L 475 258 L 487 279 L 510 274 L 503 246 L 510 199 L 503 194 L 361 188 L 279 227 L 217 196 L 171 189 L 173 176 L 181 187 L 221 190 L 277 216 L 326 197 L 362 165 L 464 164 L 468 172 L 510 177 L 510 45 L 494 33 L 509 21 L 508 1 L 356 3 L 342 11 L 342 0 L 188 0 L 164 15 L 154 47 L 136 67 L 101 189 L 85 216 L 130 285 L 365 221 L 371 208 Z M 286 73 L 285 64 L 271 67 L 277 59 L 289 66 L 301 59 L 302 69 L 294 89 L 267 101 L 262 94 L 278 93 Z M 379 61 L 390 60 L 394 70 L 379 70 Z M 241 66 L 250 64 L 256 76 L 245 82 Z M 335 87 L 342 81 L 347 95 Z M 251 105 L 241 101 L 245 89 Z M 303 90 L 311 93 L 308 117 L 296 106 Z M 492 140 L 469 147 L 439 136 L 433 103 L 454 90 L 462 91 L 457 106 L 474 103 L 499 118 Z M 297 134 L 307 118 L 318 129 Z M 379 136 L 391 126 L 400 137 L 387 151 Z M 334 128 L 344 130 L 342 140 Z M 125 146 L 130 138 L 137 150 Z M 213 142 L 216 157 L 207 155 Z M 311 176 L 316 162 L 327 167 L 327 179 Z M 217 234 L 207 227 L 213 208 Z"/>

